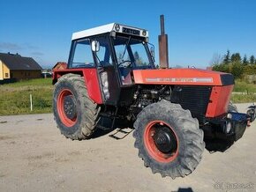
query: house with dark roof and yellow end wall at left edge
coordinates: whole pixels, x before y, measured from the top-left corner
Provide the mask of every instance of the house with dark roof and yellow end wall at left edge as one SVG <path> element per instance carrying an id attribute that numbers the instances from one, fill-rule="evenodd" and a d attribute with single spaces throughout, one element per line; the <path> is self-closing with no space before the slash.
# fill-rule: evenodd
<path id="1" fill-rule="evenodd" d="M 41 66 L 31 57 L 0 53 L 0 82 L 41 78 Z"/>

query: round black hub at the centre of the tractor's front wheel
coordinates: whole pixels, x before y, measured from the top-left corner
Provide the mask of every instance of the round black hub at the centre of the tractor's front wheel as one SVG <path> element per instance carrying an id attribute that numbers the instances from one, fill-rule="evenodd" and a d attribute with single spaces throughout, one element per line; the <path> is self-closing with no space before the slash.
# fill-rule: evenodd
<path id="1" fill-rule="evenodd" d="M 155 129 L 154 144 L 159 151 L 171 154 L 177 151 L 177 140 L 171 129 L 160 127 Z"/>

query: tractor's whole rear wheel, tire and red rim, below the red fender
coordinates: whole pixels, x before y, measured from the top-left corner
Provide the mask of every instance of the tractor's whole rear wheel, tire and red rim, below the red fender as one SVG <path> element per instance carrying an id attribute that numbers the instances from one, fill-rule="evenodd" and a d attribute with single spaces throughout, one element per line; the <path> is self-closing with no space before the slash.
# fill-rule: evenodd
<path id="1" fill-rule="evenodd" d="M 99 107 L 88 97 L 84 78 L 66 74 L 53 93 L 53 111 L 58 129 L 73 140 L 89 138 L 99 120 Z"/>

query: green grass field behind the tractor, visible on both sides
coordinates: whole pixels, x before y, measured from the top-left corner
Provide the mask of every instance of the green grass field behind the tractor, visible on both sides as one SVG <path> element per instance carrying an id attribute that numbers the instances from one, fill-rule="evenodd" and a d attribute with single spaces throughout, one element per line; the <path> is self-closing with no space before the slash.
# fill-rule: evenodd
<path id="1" fill-rule="evenodd" d="M 0 115 L 40 114 L 52 112 L 51 78 L 38 78 L 18 83 L 0 85 Z M 256 85 L 236 81 L 231 100 L 234 103 L 256 101 Z M 33 111 L 30 110 L 30 94 L 33 98 Z"/>

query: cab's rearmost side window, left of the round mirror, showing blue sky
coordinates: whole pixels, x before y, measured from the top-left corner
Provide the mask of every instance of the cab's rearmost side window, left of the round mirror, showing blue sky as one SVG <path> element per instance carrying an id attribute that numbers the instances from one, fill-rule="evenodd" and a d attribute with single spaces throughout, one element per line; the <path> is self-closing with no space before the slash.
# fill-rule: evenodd
<path id="1" fill-rule="evenodd" d="M 72 68 L 94 67 L 90 40 L 78 41 L 74 48 Z"/>

